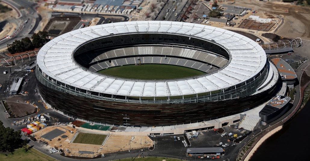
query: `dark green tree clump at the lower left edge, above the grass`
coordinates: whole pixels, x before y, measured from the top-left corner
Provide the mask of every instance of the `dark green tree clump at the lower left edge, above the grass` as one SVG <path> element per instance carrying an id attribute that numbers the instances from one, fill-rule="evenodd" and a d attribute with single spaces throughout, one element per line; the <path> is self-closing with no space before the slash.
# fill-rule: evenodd
<path id="1" fill-rule="evenodd" d="M 12 152 L 14 149 L 22 145 L 20 130 L 14 131 L 9 127 L 5 128 L 2 121 L 0 121 L 0 151 Z"/>

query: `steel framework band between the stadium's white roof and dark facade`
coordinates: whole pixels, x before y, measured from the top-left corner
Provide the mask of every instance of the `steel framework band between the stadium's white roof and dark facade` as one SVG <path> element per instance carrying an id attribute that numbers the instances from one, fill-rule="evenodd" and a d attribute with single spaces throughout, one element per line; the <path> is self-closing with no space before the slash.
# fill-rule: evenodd
<path id="1" fill-rule="evenodd" d="M 58 84 L 58 82 L 54 82 L 43 75 L 43 73 L 40 72 L 40 70 L 36 70 L 36 77 L 39 82 L 41 82 L 46 87 L 50 87 L 52 89 L 55 89 L 56 91 L 68 93 L 71 95 L 78 95 L 82 97 L 87 97 L 91 99 L 98 99 L 98 100 L 109 100 L 109 101 L 119 101 L 119 102 L 132 102 L 132 103 L 171 103 L 171 104 L 179 104 L 179 103 L 198 103 L 198 102 L 211 102 L 211 101 L 219 101 L 219 100 L 228 100 L 228 99 L 234 99 L 234 98 L 240 98 L 244 96 L 248 96 L 256 92 L 257 88 L 263 83 L 263 80 L 267 77 L 268 68 L 267 65 L 264 67 L 264 69 L 257 74 L 257 77 L 249 81 L 248 83 L 240 83 L 240 87 L 232 86 L 228 87 L 226 89 L 217 90 L 215 94 L 212 94 L 212 91 L 206 92 L 206 93 L 200 93 L 200 94 L 193 94 L 193 95 L 181 95 L 181 99 L 171 99 L 173 96 L 167 96 L 165 98 L 168 98 L 167 100 L 153 100 L 156 97 L 148 97 L 149 100 L 146 100 L 147 97 L 138 97 L 137 100 L 134 99 L 121 99 L 121 98 L 111 98 L 104 96 L 104 93 L 96 93 L 96 95 L 91 94 L 88 91 L 88 93 L 82 92 L 81 89 L 78 89 L 76 87 L 70 88 L 69 85 L 62 85 Z M 101 94 L 101 95 L 100 95 Z M 199 95 L 199 96 L 198 96 Z M 203 96 L 200 96 L 203 95 Z M 112 95 L 113 96 L 113 95 Z M 114 95 L 116 97 L 117 95 Z M 178 97 L 178 96 L 175 96 Z M 185 98 L 184 98 L 185 97 Z M 189 98 L 186 98 L 189 97 Z M 142 98 L 142 99 L 141 99 Z M 144 100 L 143 100 L 144 99 Z"/>

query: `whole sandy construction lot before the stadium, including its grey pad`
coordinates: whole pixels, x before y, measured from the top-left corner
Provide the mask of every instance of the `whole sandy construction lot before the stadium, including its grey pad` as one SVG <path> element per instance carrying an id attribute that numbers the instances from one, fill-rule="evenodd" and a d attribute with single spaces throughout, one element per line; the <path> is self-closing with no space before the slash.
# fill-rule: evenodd
<path id="1" fill-rule="evenodd" d="M 99 138 L 100 135 L 104 136 L 104 139 L 103 142 L 100 142 L 100 145 L 95 145 L 95 143 L 74 143 L 79 134 L 83 134 L 83 138 L 79 139 Z M 81 127 L 72 128 L 62 125 L 48 126 L 31 135 L 38 141 L 63 151 L 64 155 L 69 157 L 94 158 L 102 154 L 153 147 L 153 140 L 148 136 L 117 135 L 113 134 L 113 132 L 102 132 Z"/>

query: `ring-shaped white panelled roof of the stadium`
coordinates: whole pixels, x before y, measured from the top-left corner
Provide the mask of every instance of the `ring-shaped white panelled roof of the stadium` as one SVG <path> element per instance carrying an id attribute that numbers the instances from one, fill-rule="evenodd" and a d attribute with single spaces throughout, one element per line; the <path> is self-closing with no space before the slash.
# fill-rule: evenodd
<path id="1" fill-rule="evenodd" d="M 113 36 L 119 35 L 126 38 L 126 35 L 147 33 L 203 40 L 208 44 L 205 45 L 206 49 L 212 48 L 209 44 L 214 44 L 214 48 L 221 47 L 226 50 L 230 60 L 217 72 L 197 78 L 143 81 L 95 73 L 77 64 L 73 58 L 77 51 L 78 54 L 87 54 L 83 53 L 87 51 L 87 45 L 94 46 L 100 40 L 113 39 Z M 140 41 L 142 43 L 146 40 Z M 197 46 L 203 47 L 201 44 Z M 49 41 L 37 56 L 40 73 L 56 84 L 63 83 L 64 86 L 86 90 L 86 93 L 140 97 L 193 95 L 236 87 L 261 74 L 266 67 L 266 60 L 266 54 L 259 44 L 235 32 L 200 24 L 168 21 L 109 23 L 74 30 Z M 249 94 L 251 93 L 247 95 Z"/>

